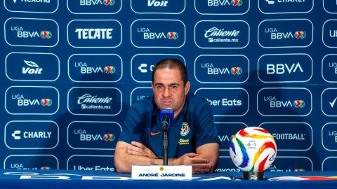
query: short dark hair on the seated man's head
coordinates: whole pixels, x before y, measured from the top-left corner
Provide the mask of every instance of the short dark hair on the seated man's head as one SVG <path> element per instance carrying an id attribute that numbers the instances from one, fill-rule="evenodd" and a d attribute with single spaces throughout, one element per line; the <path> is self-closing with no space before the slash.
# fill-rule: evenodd
<path id="1" fill-rule="evenodd" d="M 173 58 L 161 59 L 161 61 L 157 62 L 152 71 L 152 83 L 154 81 L 154 73 L 157 71 L 157 69 L 164 69 L 164 68 L 179 69 L 181 80 L 183 80 L 184 86 L 186 85 L 187 83 L 186 66 L 180 60 Z"/>

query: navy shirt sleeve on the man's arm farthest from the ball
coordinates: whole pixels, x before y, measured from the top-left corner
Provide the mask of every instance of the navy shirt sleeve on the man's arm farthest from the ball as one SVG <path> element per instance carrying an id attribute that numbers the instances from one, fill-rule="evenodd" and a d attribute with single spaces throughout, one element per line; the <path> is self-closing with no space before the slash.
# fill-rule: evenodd
<path id="1" fill-rule="evenodd" d="M 143 123 L 139 111 L 137 111 L 135 106 L 131 106 L 128 109 L 128 113 L 126 113 L 119 141 L 124 141 L 128 144 L 131 144 L 131 141 L 138 141 L 141 143 L 141 134 L 143 133 L 141 130 L 142 125 Z"/>

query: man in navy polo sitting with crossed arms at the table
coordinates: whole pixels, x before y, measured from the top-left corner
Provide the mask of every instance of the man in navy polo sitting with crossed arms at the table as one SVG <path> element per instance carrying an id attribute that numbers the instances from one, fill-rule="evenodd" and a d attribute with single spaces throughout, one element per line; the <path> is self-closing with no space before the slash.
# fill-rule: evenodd
<path id="1" fill-rule="evenodd" d="M 214 172 L 219 141 L 209 102 L 190 93 L 185 65 L 163 59 L 152 72 L 153 97 L 128 110 L 114 153 L 117 172 L 131 172 L 132 165 L 163 165 L 159 113 L 173 109 L 174 124 L 168 129 L 168 165 L 192 165 L 194 174 Z"/>

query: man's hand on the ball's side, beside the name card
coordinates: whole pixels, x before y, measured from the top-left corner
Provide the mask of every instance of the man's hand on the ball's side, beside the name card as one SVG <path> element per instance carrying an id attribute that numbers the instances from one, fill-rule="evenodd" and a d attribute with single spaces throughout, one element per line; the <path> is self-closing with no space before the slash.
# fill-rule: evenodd
<path id="1" fill-rule="evenodd" d="M 197 158 L 197 153 L 186 153 L 175 162 L 178 165 L 192 165 L 193 174 L 205 174 L 212 171 L 212 166 L 209 164 L 209 160 L 204 158 Z"/>

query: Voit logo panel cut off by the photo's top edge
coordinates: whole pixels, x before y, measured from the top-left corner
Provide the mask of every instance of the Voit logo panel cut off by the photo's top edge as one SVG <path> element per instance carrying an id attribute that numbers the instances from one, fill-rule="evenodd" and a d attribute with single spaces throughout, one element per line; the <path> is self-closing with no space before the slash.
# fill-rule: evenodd
<path id="1" fill-rule="evenodd" d="M 131 9 L 138 14 L 180 14 L 183 13 L 186 6 L 186 0 L 131 0 Z"/>

